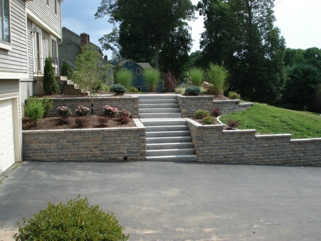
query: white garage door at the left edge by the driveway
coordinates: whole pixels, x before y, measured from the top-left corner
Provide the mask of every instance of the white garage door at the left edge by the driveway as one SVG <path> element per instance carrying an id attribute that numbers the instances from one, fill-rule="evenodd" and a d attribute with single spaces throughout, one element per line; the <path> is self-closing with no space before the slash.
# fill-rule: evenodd
<path id="1" fill-rule="evenodd" d="M 0 100 L 0 171 L 15 162 L 12 100 Z"/>

